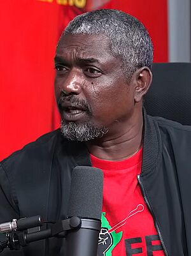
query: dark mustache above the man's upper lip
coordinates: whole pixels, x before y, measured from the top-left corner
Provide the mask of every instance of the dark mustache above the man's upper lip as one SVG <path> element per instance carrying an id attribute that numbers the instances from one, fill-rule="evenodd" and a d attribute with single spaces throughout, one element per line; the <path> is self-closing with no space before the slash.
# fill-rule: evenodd
<path id="1" fill-rule="evenodd" d="M 69 102 L 73 104 L 73 107 L 83 109 L 88 112 L 89 115 L 92 114 L 92 109 L 90 105 L 85 101 L 85 100 L 80 100 L 76 98 L 74 95 L 69 95 L 69 96 L 60 96 L 59 101 L 58 101 L 58 107 L 59 109 L 62 109 L 62 103 L 64 102 Z"/>

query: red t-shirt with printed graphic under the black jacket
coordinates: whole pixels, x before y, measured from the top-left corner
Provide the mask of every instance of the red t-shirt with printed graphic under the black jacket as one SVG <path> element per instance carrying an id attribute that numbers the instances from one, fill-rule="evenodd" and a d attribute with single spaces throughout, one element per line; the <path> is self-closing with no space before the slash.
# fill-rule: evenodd
<path id="1" fill-rule="evenodd" d="M 104 193 L 99 256 L 164 256 L 153 217 L 138 183 L 143 149 L 121 162 L 91 155 L 103 170 Z"/>

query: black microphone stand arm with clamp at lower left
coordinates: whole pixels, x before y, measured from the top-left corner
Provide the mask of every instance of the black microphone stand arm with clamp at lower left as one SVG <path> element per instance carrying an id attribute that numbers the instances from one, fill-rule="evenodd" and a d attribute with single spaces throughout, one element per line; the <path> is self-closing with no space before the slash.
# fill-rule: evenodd
<path id="1" fill-rule="evenodd" d="M 25 230 L 22 232 L 18 232 L 17 230 L 6 232 L 6 240 L 0 241 L 0 253 L 3 252 L 4 248 L 19 250 L 20 246 L 26 246 L 31 242 L 49 237 L 67 237 L 67 234 L 76 232 L 79 229 L 95 230 L 96 234 L 97 232 L 99 234 L 99 231 L 101 230 L 101 221 L 80 217 L 71 217 L 66 220 L 60 220 L 59 222 L 52 224 L 49 229 L 41 230 L 40 226 L 47 222 L 43 222 L 39 216 L 36 217 L 34 218 L 36 218 L 38 222 L 32 223 L 32 225 L 27 223 L 25 225 Z M 25 219 L 27 220 L 27 218 Z M 39 231 L 34 231 L 34 228 L 38 228 Z"/>

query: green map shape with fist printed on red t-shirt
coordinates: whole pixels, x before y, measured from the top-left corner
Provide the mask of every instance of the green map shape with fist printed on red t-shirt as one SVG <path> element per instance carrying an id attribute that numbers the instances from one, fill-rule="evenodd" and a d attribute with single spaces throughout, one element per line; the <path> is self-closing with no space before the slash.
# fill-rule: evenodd
<path id="1" fill-rule="evenodd" d="M 112 256 L 112 251 L 121 241 L 123 232 L 117 233 L 113 230 L 110 233 L 111 226 L 106 218 L 106 213 L 102 213 L 101 223 L 102 229 L 99 234 L 98 252 L 100 256 Z"/>

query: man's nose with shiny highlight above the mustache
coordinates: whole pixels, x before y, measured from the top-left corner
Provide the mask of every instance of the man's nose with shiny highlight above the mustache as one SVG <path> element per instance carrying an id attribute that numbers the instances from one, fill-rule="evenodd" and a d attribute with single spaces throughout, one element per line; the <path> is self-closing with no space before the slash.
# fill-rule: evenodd
<path id="1" fill-rule="evenodd" d="M 66 80 L 63 81 L 61 90 L 64 94 L 80 94 L 81 93 L 82 79 L 80 74 L 76 72 L 70 72 L 67 75 Z"/>

